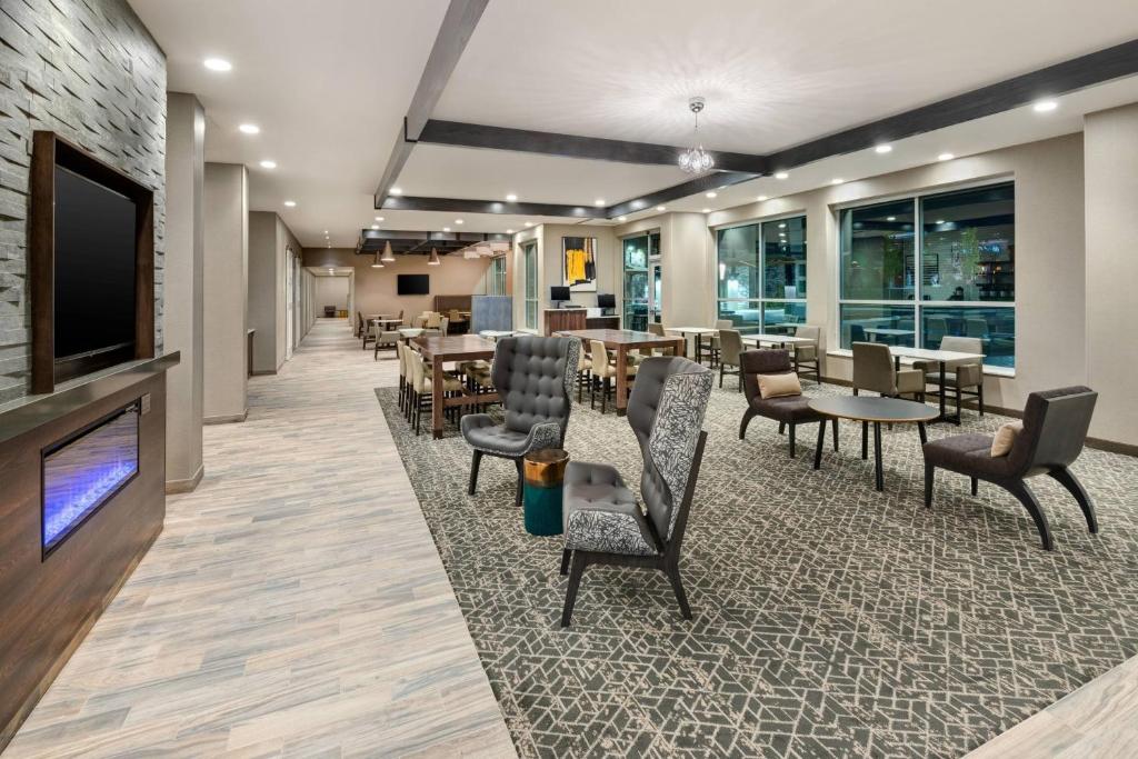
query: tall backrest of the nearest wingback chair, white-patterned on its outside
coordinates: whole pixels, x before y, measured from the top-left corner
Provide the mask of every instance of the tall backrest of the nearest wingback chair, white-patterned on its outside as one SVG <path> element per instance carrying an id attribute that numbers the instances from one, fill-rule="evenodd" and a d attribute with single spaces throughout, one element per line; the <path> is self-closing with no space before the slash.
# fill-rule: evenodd
<path id="1" fill-rule="evenodd" d="M 628 423 L 641 440 L 641 496 L 667 550 L 678 551 L 703 454 L 703 416 L 712 372 L 687 358 L 643 361 L 628 398 Z"/>

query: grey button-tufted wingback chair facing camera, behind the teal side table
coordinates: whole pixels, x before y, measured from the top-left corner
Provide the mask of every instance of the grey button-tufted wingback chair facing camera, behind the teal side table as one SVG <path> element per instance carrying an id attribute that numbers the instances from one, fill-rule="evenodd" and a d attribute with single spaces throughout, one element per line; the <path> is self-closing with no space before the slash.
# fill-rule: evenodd
<path id="1" fill-rule="evenodd" d="M 490 379 L 505 412 L 503 423 L 487 414 L 462 418 L 462 437 L 475 449 L 470 464 L 470 495 L 478 486 L 484 455 L 510 459 L 518 467 L 521 505 L 522 459 L 530 451 L 564 444 L 572 387 L 577 379 L 580 341 L 567 337 L 505 337 L 494 350 Z"/>

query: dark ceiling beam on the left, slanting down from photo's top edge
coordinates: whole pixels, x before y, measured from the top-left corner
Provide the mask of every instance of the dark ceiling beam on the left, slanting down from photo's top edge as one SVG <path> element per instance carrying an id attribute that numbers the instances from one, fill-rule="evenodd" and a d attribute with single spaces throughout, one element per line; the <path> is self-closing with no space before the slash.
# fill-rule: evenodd
<path id="1" fill-rule="evenodd" d="M 435 110 L 438 99 L 443 97 L 443 90 L 446 89 L 454 67 L 459 65 L 459 58 L 467 49 L 467 43 L 470 42 L 470 36 L 475 33 L 475 27 L 478 26 L 478 20 L 483 17 L 488 2 L 489 0 L 451 0 L 451 5 L 447 6 L 443 25 L 435 35 L 435 44 L 427 58 L 422 76 L 419 77 L 415 93 L 411 98 L 407 115 L 403 118 L 402 133 L 395 139 L 384 175 L 376 188 L 377 208 L 379 198 L 387 196 L 403 166 L 406 165 L 407 158 L 411 157 L 414 141 Z"/>

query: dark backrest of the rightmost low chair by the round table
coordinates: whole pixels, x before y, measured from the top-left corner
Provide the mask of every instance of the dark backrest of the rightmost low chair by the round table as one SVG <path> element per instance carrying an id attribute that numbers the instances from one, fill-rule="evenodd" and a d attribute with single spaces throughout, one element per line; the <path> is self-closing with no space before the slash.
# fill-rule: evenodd
<path id="1" fill-rule="evenodd" d="M 1089 387 L 1032 393 L 1023 410 L 1023 431 L 1008 454 L 1020 476 L 1067 467 L 1082 453 L 1098 394 Z"/>

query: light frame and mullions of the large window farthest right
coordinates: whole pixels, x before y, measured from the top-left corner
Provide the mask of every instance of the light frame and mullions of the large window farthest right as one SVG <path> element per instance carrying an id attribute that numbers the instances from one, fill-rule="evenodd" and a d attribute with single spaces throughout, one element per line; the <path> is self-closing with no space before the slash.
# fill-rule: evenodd
<path id="1" fill-rule="evenodd" d="M 848 203 L 835 204 L 831 206 L 831 213 L 833 214 L 834 229 L 838 231 L 834 238 L 834 262 L 833 266 L 833 287 L 836 298 L 832 302 L 833 307 L 833 329 L 828 336 L 831 345 L 838 346 L 839 349 L 849 350 L 849 348 L 842 348 L 842 306 L 843 305 L 866 305 L 866 306 L 887 306 L 887 307 L 909 307 L 913 310 L 913 324 L 914 324 L 914 336 L 913 345 L 918 348 L 924 348 L 922 345 L 924 343 L 924 329 L 923 329 L 923 314 L 922 310 L 925 307 L 930 308 L 1011 308 L 1013 319 L 1019 314 L 1015 311 L 1016 304 L 1019 303 L 1019 289 L 1016 289 L 1016 297 L 1012 300 L 922 300 L 921 296 L 924 290 L 924 206 L 921 203 L 922 198 L 927 198 L 930 196 L 948 195 L 951 192 L 962 192 L 966 190 L 982 190 L 984 188 L 998 187 L 1000 184 L 1011 184 L 1013 191 L 1016 188 L 1016 181 L 1014 175 L 997 175 L 987 176 L 982 180 L 973 180 L 968 182 L 954 183 L 949 185 L 925 188 L 923 190 L 915 190 L 912 192 L 897 192 L 891 195 L 885 195 L 874 198 L 860 198 L 857 200 L 851 200 Z M 876 206 L 885 203 L 893 203 L 900 200 L 912 200 L 913 201 L 913 228 L 914 245 L 913 245 L 913 258 L 914 258 L 914 289 L 913 289 L 913 300 L 882 300 L 882 299 L 857 299 L 857 298 L 843 298 L 842 297 L 842 212 L 851 211 L 856 208 L 865 208 L 868 206 Z M 1019 218 L 1019 193 L 1015 195 L 1013 201 L 1013 213 L 1016 218 Z M 718 247 L 717 247 L 718 255 Z M 933 349 L 938 349 L 940 346 L 933 346 Z M 1015 340 L 1015 347 L 1012 350 L 1012 366 L 1003 366 L 1000 364 L 989 364 L 984 362 L 982 369 L 984 372 L 992 374 L 1007 374 L 1015 376 L 1016 361 L 1019 360 L 1019 340 Z M 984 356 L 987 358 L 987 354 Z"/>

